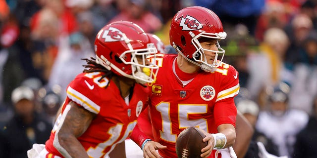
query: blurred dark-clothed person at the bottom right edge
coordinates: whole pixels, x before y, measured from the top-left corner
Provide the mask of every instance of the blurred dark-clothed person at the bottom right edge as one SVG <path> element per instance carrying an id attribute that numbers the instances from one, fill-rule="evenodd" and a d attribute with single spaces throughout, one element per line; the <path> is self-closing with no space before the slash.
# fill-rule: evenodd
<path id="1" fill-rule="evenodd" d="M 292 158 L 317 158 L 317 96 L 307 125 L 296 136 Z"/>

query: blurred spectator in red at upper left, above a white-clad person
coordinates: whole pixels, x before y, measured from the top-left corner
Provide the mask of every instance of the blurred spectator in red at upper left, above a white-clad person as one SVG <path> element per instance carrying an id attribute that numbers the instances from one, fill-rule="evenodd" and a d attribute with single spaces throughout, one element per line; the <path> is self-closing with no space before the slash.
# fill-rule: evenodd
<path id="1" fill-rule="evenodd" d="M 63 0 L 48 0 L 45 7 L 33 15 L 32 39 L 37 45 L 34 65 L 42 71 L 44 83 L 50 77 L 58 52 L 62 52 L 60 46 L 67 43 L 67 37 L 77 29 L 77 19 Z"/>

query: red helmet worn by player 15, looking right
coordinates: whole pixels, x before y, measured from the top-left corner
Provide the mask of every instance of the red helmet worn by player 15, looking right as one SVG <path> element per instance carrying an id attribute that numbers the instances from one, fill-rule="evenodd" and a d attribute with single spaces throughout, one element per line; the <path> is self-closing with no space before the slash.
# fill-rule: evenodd
<path id="1" fill-rule="evenodd" d="M 221 64 L 224 50 L 218 42 L 216 42 L 218 51 L 204 49 L 199 38 L 222 40 L 226 36 L 219 17 L 210 9 L 201 6 L 191 6 L 180 10 L 172 19 L 169 30 L 170 44 L 177 52 L 206 72 L 211 72 Z M 215 53 L 212 64 L 207 63 L 204 51 Z M 217 60 L 218 56 L 220 60 Z"/>

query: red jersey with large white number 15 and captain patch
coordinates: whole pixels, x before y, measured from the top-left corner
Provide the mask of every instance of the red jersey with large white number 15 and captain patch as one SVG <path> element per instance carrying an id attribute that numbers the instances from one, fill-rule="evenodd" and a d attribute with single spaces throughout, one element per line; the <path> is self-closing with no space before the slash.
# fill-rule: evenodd
<path id="1" fill-rule="evenodd" d="M 178 134 L 189 126 L 218 133 L 217 126 L 235 126 L 237 110 L 234 97 L 239 92 L 238 72 L 222 63 L 213 73 L 178 73 L 177 55 L 157 56 L 159 73 L 152 85 L 150 117 L 156 142 L 167 146 L 159 150 L 163 158 L 177 158 L 175 142 Z M 185 85 L 183 84 L 185 83 Z M 142 128 L 142 127 L 140 127 Z"/>

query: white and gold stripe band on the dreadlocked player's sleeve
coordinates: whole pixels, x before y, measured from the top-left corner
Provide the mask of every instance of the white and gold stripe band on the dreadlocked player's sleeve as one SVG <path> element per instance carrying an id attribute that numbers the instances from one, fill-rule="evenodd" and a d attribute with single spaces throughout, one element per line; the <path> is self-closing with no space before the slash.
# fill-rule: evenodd
<path id="1" fill-rule="evenodd" d="M 100 106 L 87 98 L 85 95 L 76 91 L 72 87 L 67 88 L 67 96 L 77 104 L 83 106 L 86 110 L 98 114 L 100 112 Z"/>

